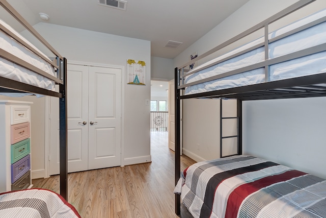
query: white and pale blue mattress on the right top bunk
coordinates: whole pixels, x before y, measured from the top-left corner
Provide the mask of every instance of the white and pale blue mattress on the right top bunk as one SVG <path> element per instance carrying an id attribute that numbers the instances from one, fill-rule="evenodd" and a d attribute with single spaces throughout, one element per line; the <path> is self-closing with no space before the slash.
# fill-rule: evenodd
<path id="1" fill-rule="evenodd" d="M 269 39 L 301 27 L 306 23 L 326 16 L 326 9 L 314 13 L 308 17 L 300 19 L 284 28 L 274 31 L 269 34 Z M 205 64 L 202 64 L 188 73 L 195 70 L 200 70 L 185 78 L 185 83 L 195 82 L 201 79 L 209 78 L 215 75 L 220 75 L 225 72 L 249 66 L 255 63 L 264 61 L 264 47 L 259 47 L 253 51 L 247 52 L 235 58 L 229 59 L 222 63 L 205 68 L 207 65 L 222 60 L 240 51 L 248 49 L 256 44 L 263 42 L 264 38 L 258 38 L 246 45 L 215 58 Z M 269 44 L 269 59 L 280 57 L 286 54 L 297 52 L 309 47 L 319 45 L 326 42 L 326 22 L 320 23 L 314 27 L 304 31 L 287 36 Z M 282 80 L 293 77 L 301 77 L 306 75 L 318 74 L 326 72 L 326 52 L 317 53 L 308 57 L 302 57 L 291 61 L 282 62 L 271 65 L 269 67 L 269 81 Z M 264 68 L 259 68 L 241 74 L 204 82 L 197 85 L 186 87 L 185 94 L 194 94 L 206 91 L 226 89 L 238 86 L 246 86 L 251 84 L 263 83 L 265 81 Z"/>

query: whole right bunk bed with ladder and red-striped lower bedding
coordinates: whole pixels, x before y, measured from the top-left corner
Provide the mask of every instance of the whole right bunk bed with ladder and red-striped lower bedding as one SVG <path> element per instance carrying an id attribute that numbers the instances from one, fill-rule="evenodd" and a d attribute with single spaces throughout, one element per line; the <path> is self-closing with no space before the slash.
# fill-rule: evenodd
<path id="1" fill-rule="evenodd" d="M 242 101 L 326 96 L 326 10 L 273 32 L 268 29 L 312 2 L 298 1 L 175 68 L 176 214 L 182 199 L 195 217 L 326 217 L 324 179 L 242 154 Z M 187 69 L 258 30 L 264 36 Z M 221 134 L 220 159 L 198 162 L 181 172 L 180 104 L 193 98 L 237 101 L 236 117 L 226 117 L 237 119 L 236 152 L 223 154 Z"/>

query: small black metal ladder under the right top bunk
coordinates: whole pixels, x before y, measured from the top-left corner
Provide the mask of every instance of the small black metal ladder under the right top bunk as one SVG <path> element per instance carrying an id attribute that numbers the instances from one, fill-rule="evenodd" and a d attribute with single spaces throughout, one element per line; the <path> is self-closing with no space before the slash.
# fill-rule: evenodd
<path id="1" fill-rule="evenodd" d="M 237 100 L 237 114 L 236 116 L 223 116 L 223 99 L 220 99 L 220 158 L 228 157 L 232 155 L 242 154 L 242 101 Z M 223 135 L 223 120 L 236 119 L 236 134 L 235 135 Z M 236 138 L 236 153 L 223 155 L 223 139 Z"/>

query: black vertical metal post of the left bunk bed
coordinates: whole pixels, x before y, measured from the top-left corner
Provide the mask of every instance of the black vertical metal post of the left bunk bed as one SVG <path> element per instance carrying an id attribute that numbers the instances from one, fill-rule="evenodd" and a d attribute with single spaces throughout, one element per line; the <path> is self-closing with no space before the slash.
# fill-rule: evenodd
<path id="1" fill-rule="evenodd" d="M 67 59 L 63 59 L 63 84 L 59 90 L 62 93 L 60 98 L 60 195 L 68 201 L 68 157 L 67 157 Z"/>

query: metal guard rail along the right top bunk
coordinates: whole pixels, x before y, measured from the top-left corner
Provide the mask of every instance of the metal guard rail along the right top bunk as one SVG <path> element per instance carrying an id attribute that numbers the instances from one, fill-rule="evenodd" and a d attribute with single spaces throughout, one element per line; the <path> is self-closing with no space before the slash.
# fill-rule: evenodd
<path id="1" fill-rule="evenodd" d="M 318 23 L 326 21 L 326 17 L 322 17 L 322 18 L 320 18 L 318 20 L 307 23 L 304 26 L 293 29 L 290 32 L 284 33 L 284 34 L 279 35 L 277 37 L 274 37 L 272 39 L 268 38 L 268 35 L 269 35 L 268 27 L 269 27 L 269 25 L 271 23 L 273 23 L 273 22 L 285 17 L 286 15 L 288 15 L 288 14 L 290 14 L 290 13 L 292 13 L 292 12 L 298 10 L 298 9 L 301 9 L 301 8 L 305 7 L 306 5 L 308 5 L 308 4 L 312 3 L 312 2 L 315 2 L 315 1 L 316 0 L 300 0 L 297 3 L 287 7 L 286 9 L 280 11 L 279 13 L 275 14 L 274 16 L 271 16 L 271 17 L 263 20 L 262 22 L 258 23 L 254 27 L 252 27 L 252 28 L 238 34 L 237 36 L 235 36 L 235 37 L 221 43 L 220 45 L 214 47 L 213 49 L 209 50 L 208 52 L 206 52 L 206 53 L 204 53 L 202 55 L 199 55 L 197 58 L 194 58 L 194 59 L 188 61 L 187 63 L 185 63 L 184 65 L 178 67 L 178 78 L 179 79 L 176 81 L 177 84 L 178 84 L 178 89 L 184 89 L 185 87 L 188 87 L 188 86 L 192 86 L 192 85 L 212 81 L 212 80 L 215 80 L 215 79 L 220 79 L 220 78 L 240 74 L 242 72 L 246 72 L 246 71 L 249 71 L 249 70 L 258 69 L 258 68 L 262 68 L 262 67 L 265 68 L 265 82 L 268 82 L 268 75 L 269 75 L 268 70 L 269 70 L 270 65 L 273 65 L 273 64 L 276 64 L 276 63 L 281 63 L 281 62 L 292 60 L 292 59 L 296 59 L 296 58 L 300 58 L 300 57 L 304 57 L 304 56 L 315 54 L 315 53 L 318 53 L 318 52 L 326 51 L 326 43 L 323 43 L 321 45 L 310 47 L 308 49 L 304 49 L 304 50 L 301 50 L 299 52 L 294 52 L 294 53 L 290 53 L 290 54 L 287 54 L 287 55 L 283 55 L 281 57 L 272 58 L 272 59 L 268 58 L 268 44 L 270 42 L 279 40 L 279 39 L 284 38 L 284 37 L 286 37 L 288 35 L 294 34 L 296 32 L 300 32 L 300 31 L 302 31 L 304 29 L 315 26 Z M 264 61 L 256 63 L 256 64 L 248 65 L 248 66 L 245 66 L 245 67 L 242 67 L 242 68 L 238 68 L 238 69 L 235 69 L 235 70 L 232 70 L 232 71 L 224 72 L 224 73 L 222 73 L 220 75 L 215 75 L 215 76 L 212 76 L 212 77 L 209 77 L 209 78 L 205 78 L 205 79 L 201 79 L 201 80 L 198 80 L 198 81 L 195 81 L 195 82 L 192 82 L 192 83 L 185 84 L 185 77 L 199 71 L 199 70 L 193 69 L 191 72 L 188 72 L 189 69 L 187 69 L 187 67 L 189 65 L 191 65 L 192 63 L 194 63 L 194 62 L 196 62 L 198 60 L 201 60 L 201 59 L 207 57 L 208 55 L 211 55 L 211 54 L 213 54 L 215 52 L 221 51 L 226 46 L 229 46 L 232 43 L 235 43 L 238 40 L 240 40 L 240 39 L 242 39 L 242 38 L 244 38 L 246 36 L 249 36 L 249 35 L 251 35 L 251 34 L 253 34 L 256 31 L 259 31 L 261 29 L 264 29 L 264 36 L 263 36 L 264 40 L 263 40 L 263 42 L 260 42 L 259 44 L 251 46 L 246 50 L 239 51 L 236 54 L 233 54 L 232 56 L 228 56 L 228 57 L 226 57 L 224 59 L 221 59 L 221 60 L 218 60 L 216 62 L 210 63 L 210 64 L 206 65 L 204 68 L 201 68 L 201 70 L 205 69 L 205 68 L 208 68 L 210 66 L 213 66 L 215 64 L 219 64 L 219 63 L 221 63 L 223 61 L 226 61 L 226 60 L 229 60 L 231 58 L 237 57 L 237 56 L 242 55 L 244 53 L 247 53 L 249 51 L 255 50 L 258 47 L 262 47 L 262 46 L 264 46 L 264 52 L 265 52 L 265 60 Z"/>

